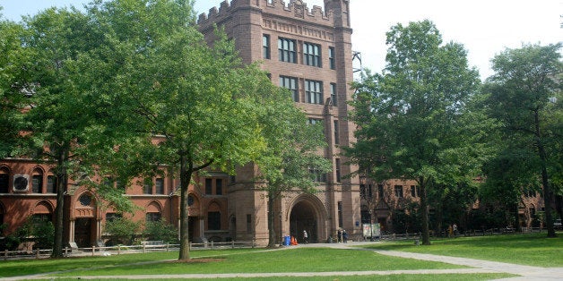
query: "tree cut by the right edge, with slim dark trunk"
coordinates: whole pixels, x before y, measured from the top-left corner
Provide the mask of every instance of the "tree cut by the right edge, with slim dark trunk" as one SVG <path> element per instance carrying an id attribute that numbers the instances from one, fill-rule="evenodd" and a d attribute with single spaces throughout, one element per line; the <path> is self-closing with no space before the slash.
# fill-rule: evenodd
<path id="1" fill-rule="evenodd" d="M 560 162 L 555 164 L 552 158 L 556 161 L 560 159 L 560 140 L 563 135 L 560 99 L 557 98 L 563 88 L 560 82 L 563 70 L 560 48 L 559 43 L 505 50 L 492 59 L 495 74 L 489 77 L 486 87 L 489 92 L 489 115 L 501 123 L 504 136 L 515 135 L 508 140 L 517 138 L 522 151 L 517 156 L 525 155 L 526 162 L 537 163 L 533 166 L 536 175 L 541 178 L 549 237 L 556 236 L 551 214 L 553 192 L 549 175 L 552 169 L 560 171 Z M 555 118 L 548 119 L 551 116 Z M 517 158 L 509 157 L 509 161 L 517 161 Z M 519 171 L 519 166 L 512 168 L 512 175 L 522 178 L 515 172 Z"/>

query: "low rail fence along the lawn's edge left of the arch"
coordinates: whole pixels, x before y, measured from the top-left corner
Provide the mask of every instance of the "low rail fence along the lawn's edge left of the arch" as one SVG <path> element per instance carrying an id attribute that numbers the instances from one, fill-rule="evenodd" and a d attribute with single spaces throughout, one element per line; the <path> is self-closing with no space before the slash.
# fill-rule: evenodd
<path id="1" fill-rule="evenodd" d="M 162 242 L 144 242 L 140 245 L 116 245 L 90 248 L 68 248 L 63 249 L 65 257 L 83 256 L 110 256 L 126 253 L 145 253 L 151 251 L 178 251 L 179 244 L 169 244 Z M 206 242 L 189 243 L 190 250 L 210 250 L 210 249 L 235 249 L 235 248 L 255 248 L 255 241 L 251 242 Z M 4 251 L 3 260 L 22 260 L 22 259 L 44 259 L 51 256 L 52 250 L 34 249 L 33 251 Z"/>

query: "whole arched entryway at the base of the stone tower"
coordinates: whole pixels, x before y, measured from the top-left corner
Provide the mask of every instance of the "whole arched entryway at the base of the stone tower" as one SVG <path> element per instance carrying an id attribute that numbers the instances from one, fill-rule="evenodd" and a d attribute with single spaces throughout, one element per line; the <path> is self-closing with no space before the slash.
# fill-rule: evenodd
<path id="1" fill-rule="evenodd" d="M 318 243 L 325 231 L 325 212 L 322 204 L 313 196 L 303 196 L 296 200 L 290 211 L 290 234 L 303 242 L 303 231 L 307 231 L 308 242 Z"/>

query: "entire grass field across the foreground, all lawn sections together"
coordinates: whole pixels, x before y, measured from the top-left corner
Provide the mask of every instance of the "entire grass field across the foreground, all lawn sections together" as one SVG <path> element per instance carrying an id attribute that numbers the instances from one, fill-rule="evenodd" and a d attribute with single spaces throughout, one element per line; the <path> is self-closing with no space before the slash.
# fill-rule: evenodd
<path id="1" fill-rule="evenodd" d="M 132 276 L 155 274 L 221 274 L 271 272 L 343 272 L 368 270 L 414 270 L 463 268 L 446 263 L 382 256 L 373 251 L 320 248 L 290 248 L 281 251 L 232 249 L 191 251 L 189 263 L 175 262 L 177 251 L 122 254 L 58 260 L 0 261 L 0 277 L 50 273 L 51 276 Z M 545 234 L 485 236 L 432 241 L 431 246 L 411 242 L 385 242 L 366 245 L 370 249 L 416 251 L 498 260 L 540 267 L 563 267 L 563 239 L 547 239 Z M 358 277 L 302 277 L 301 280 L 485 280 L 510 277 L 507 274 L 429 274 Z M 292 280 L 296 277 L 247 278 L 249 280 Z M 48 277 L 46 277 L 48 279 Z M 240 278 L 236 278 L 240 280 Z M 222 279 L 221 280 L 230 280 Z M 234 279 L 233 279 L 234 280 Z"/>

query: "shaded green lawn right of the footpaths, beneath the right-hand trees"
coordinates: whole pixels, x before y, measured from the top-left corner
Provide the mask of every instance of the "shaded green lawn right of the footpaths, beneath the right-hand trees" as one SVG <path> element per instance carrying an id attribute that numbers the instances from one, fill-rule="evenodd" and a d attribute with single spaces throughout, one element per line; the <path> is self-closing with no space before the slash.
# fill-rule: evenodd
<path id="1" fill-rule="evenodd" d="M 430 246 L 415 246 L 412 241 L 385 242 L 369 248 L 494 260 L 544 268 L 563 267 L 562 233 L 557 238 L 547 238 L 546 234 L 514 234 L 458 237 L 430 242 Z"/>

